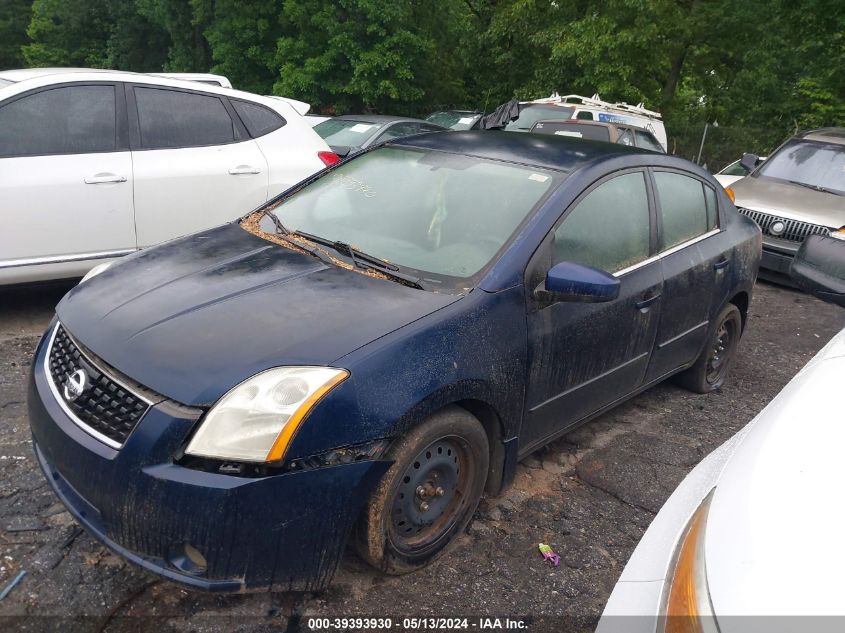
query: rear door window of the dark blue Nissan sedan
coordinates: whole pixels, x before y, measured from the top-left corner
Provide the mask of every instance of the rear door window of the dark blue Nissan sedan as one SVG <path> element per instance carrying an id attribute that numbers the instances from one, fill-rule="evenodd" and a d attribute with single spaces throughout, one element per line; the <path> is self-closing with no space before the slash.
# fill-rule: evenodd
<path id="1" fill-rule="evenodd" d="M 694 239 L 715 227 L 714 209 L 710 211 L 705 190 L 710 189 L 696 178 L 683 174 L 656 171 L 654 182 L 660 200 L 662 245 L 672 248 Z M 713 196 L 715 192 L 710 190 Z"/>

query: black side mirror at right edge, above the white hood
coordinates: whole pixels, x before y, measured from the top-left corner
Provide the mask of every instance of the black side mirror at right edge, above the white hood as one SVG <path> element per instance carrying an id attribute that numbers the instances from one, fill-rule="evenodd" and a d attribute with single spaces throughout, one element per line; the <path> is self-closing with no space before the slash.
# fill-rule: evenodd
<path id="1" fill-rule="evenodd" d="M 845 308 L 845 240 L 810 235 L 789 267 L 801 290 Z"/>

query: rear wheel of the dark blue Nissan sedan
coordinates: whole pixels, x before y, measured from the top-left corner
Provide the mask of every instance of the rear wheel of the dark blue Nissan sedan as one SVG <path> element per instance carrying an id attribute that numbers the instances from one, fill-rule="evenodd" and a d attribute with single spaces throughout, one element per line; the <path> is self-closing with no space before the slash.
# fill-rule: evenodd
<path id="1" fill-rule="evenodd" d="M 707 335 L 707 343 L 692 367 L 681 372 L 676 382 L 695 393 L 710 393 L 725 382 L 728 369 L 736 356 L 742 335 L 742 315 L 729 303 L 716 317 L 715 327 Z"/>

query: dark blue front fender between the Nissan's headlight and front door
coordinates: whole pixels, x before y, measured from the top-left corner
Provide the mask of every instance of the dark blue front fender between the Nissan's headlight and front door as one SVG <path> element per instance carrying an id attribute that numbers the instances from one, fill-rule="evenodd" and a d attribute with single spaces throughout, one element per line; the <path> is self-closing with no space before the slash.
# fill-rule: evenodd
<path id="1" fill-rule="evenodd" d="M 485 403 L 519 433 L 527 328 L 522 286 L 459 301 L 333 363 L 351 375 L 308 416 L 288 458 L 397 437 L 460 400 Z"/>

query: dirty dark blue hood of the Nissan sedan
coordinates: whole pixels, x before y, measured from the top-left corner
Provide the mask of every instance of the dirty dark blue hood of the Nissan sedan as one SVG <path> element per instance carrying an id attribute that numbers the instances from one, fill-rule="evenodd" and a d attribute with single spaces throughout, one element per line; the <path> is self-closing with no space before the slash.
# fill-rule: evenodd
<path id="1" fill-rule="evenodd" d="M 59 320 L 146 387 L 207 405 L 270 367 L 337 359 L 459 299 L 297 253 L 228 224 L 120 260 Z"/>

